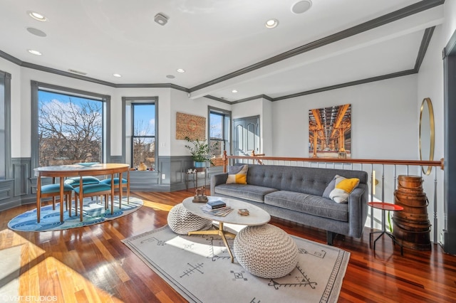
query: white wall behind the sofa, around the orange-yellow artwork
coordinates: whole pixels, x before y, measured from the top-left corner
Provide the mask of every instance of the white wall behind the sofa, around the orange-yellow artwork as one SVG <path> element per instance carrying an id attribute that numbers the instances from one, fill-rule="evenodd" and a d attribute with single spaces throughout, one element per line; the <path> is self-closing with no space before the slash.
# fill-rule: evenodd
<path id="1" fill-rule="evenodd" d="M 351 104 L 351 156 L 418 159 L 416 75 L 273 102 L 274 156 L 309 156 L 309 110 Z"/>

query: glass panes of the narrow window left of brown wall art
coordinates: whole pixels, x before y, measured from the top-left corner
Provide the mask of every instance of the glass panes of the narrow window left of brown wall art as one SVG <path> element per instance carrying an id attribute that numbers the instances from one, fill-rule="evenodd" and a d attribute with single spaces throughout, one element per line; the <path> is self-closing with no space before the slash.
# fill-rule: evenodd
<path id="1" fill-rule="evenodd" d="M 132 104 L 133 135 L 132 164 L 133 167 L 145 164 L 155 169 L 155 104 Z"/>

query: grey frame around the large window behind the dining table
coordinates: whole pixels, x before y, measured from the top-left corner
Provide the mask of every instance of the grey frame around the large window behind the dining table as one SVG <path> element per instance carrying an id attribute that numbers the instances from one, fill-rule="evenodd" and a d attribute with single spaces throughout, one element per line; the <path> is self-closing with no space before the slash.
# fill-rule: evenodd
<path id="1" fill-rule="evenodd" d="M 77 90 L 71 87 L 63 87 L 60 85 L 53 85 L 48 83 L 40 83 L 38 81 L 31 81 L 31 166 L 32 168 L 38 167 L 39 148 L 38 148 L 38 90 L 46 90 L 49 92 L 56 92 L 63 95 L 75 97 L 87 97 L 93 100 L 100 100 L 103 102 L 103 163 L 110 162 L 110 96 L 101 95 L 96 92 L 88 92 L 85 90 Z"/>

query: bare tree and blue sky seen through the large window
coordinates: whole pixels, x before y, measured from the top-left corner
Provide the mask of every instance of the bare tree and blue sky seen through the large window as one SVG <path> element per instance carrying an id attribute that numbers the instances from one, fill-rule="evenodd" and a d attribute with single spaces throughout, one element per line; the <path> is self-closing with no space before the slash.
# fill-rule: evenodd
<path id="1" fill-rule="evenodd" d="M 40 166 L 101 162 L 103 102 L 38 91 Z"/>

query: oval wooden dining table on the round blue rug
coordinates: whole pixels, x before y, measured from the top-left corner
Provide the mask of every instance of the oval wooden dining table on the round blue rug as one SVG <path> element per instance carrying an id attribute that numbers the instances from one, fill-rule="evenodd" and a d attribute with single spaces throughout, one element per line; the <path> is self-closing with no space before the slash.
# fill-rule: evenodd
<path id="1" fill-rule="evenodd" d="M 63 222 L 63 182 L 68 177 L 79 176 L 79 184 L 81 186 L 79 190 L 79 201 L 80 201 L 80 216 L 81 222 L 83 221 L 83 176 L 100 176 L 110 175 L 111 179 L 111 200 L 114 197 L 114 178 L 115 175 L 119 175 L 119 207 L 122 201 L 122 174 L 127 172 L 127 180 L 130 182 L 130 165 L 119 164 L 119 163 L 99 163 L 91 166 L 85 164 L 71 164 L 71 165 L 56 165 L 56 166 L 43 166 L 33 169 L 35 176 L 38 177 L 36 183 L 36 216 L 38 223 L 40 222 L 41 216 L 41 177 L 52 177 L 53 179 L 58 178 L 60 181 L 60 220 Z M 71 207 L 71 206 L 70 206 Z M 114 203 L 111 201 L 111 214 L 114 212 Z"/>

